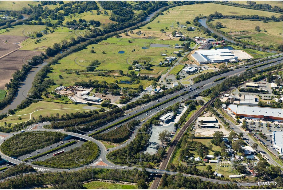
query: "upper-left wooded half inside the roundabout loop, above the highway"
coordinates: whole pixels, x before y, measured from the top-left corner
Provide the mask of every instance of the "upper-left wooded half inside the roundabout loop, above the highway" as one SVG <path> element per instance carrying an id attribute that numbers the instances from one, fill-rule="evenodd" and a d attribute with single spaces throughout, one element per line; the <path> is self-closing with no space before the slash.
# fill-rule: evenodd
<path id="1" fill-rule="evenodd" d="M 62 141 L 67 136 L 59 132 L 19 133 L 3 142 L 1 151 L 7 156 L 18 157 Z"/>

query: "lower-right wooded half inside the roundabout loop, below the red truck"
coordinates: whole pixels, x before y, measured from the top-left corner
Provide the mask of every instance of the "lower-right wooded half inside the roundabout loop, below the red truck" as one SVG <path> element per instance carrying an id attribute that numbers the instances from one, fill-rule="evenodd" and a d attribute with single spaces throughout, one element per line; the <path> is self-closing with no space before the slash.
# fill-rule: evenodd
<path id="1" fill-rule="evenodd" d="M 33 161 L 32 164 L 43 165 L 50 168 L 78 168 L 88 165 L 99 156 L 99 147 L 92 141 L 87 141 L 80 147 L 71 149 L 46 160 Z M 80 164 L 78 164 L 80 163 Z"/>

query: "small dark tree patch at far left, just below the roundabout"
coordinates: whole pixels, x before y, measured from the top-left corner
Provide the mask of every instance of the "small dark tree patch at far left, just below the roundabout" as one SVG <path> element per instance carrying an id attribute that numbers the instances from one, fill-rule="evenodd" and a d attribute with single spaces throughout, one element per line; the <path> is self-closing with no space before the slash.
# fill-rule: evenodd
<path id="1" fill-rule="evenodd" d="M 14 176 L 20 173 L 27 173 L 27 172 L 35 172 L 35 169 L 29 165 L 19 164 L 15 165 L 14 167 L 6 169 L 5 172 L 0 173 L 0 179 L 5 179 L 10 176 Z"/>

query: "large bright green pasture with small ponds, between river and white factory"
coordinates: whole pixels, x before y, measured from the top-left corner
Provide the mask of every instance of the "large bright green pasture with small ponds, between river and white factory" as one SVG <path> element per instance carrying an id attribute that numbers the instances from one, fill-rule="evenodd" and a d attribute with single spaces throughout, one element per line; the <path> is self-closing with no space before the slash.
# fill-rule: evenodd
<path id="1" fill-rule="evenodd" d="M 160 41 L 164 43 L 164 41 Z M 98 81 L 107 81 L 112 83 L 117 81 L 130 81 L 129 77 L 120 76 L 118 71 L 122 70 L 123 73 L 128 72 L 128 66 L 133 66 L 133 60 L 147 60 L 151 59 L 152 65 L 158 65 L 160 61 L 163 60 L 164 56 L 161 56 L 165 50 L 167 50 L 167 55 L 174 55 L 172 52 L 174 49 L 169 49 L 165 47 L 150 47 L 151 43 L 159 43 L 159 40 L 153 39 L 131 39 L 131 43 L 128 42 L 127 38 L 108 38 L 98 44 L 93 44 L 87 48 L 73 53 L 62 60 L 60 64 L 52 65 L 53 70 L 48 76 L 51 79 L 54 79 L 55 83 L 63 85 L 73 85 L 75 81 L 88 81 L 89 79 L 98 80 Z M 165 42 L 166 43 L 166 42 Z M 167 44 L 174 46 L 175 42 L 168 42 Z M 93 48 L 92 48 L 93 47 Z M 149 47 L 148 49 L 142 49 L 142 47 Z M 90 50 L 94 50 L 96 53 L 91 53 Z M 103 53 L 103 51 L 105 53 Z M 125 53 L 118 53 L 119 51 L 124 51 Z M 104 70 L 103 73 L 109 73 L 114 75 L 111 77 L 101 77 L 95 76 L 92 72 L 85 73 L 85 67 L 88 66 L 89 62 L 84 63 L 82 61 L 98 60 L 100 65 L 96 70 Z M 78 64 L 75 63 L 75 60 Z M 81 66 L 83 65 L 83 66 Z M 141 69 L 140 74 L 149 74 L 158 76 L 164 74 L 169 67 L 160 67 L 152 66 L 150 70 Z M 78 70 L 81 74 L 76 75 L 72 73 L 73 71 Z M 94 71 L 96 72 L 96 71 Z M 102 72 L 102 71 L 99 71 Z M 97 74 L 97 72 L 96 72 Z M 62 78 L 59 78 L 59 75 L 62 75 Z M 148 81 L 140 81 L 138 84 L 118 84 L 120 87 L 133 87 L 137 88 L 139 85 L 147 86 Z M 50 89 L 53 89 L 55 86 L 51 86 Z"/>

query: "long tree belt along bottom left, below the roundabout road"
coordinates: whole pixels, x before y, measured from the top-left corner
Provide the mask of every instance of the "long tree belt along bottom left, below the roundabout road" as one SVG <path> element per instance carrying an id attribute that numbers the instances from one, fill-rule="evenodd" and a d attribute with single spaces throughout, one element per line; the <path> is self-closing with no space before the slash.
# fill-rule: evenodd
<path id="1" fill-rule="evenodd" d="M 4 172 L 6 173 L 6 172 Z M 84 189 L 83 184 L 91 179 L 117 180 L 137 183 L 138 188 L 147 189 L 147 183 L 152 180 L 150 172 L 144 169 L 116 170 L 102 168 L 87 168 L 77 172 L 36 172 L 8 178 L 0 183 L 2 189 L 22 189 L 45 184 L 52 184 L 57 189 Z"/>

